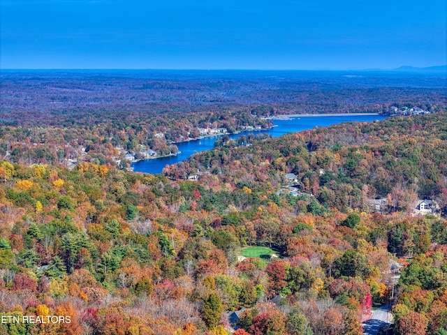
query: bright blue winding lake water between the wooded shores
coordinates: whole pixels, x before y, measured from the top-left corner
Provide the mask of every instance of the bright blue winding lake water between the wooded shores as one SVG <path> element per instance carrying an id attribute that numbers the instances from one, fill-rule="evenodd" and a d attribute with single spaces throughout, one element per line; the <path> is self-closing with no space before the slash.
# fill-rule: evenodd
<path id="1" fill-rule="evenodd" d="M 254 133 L 255 135 L 261 133 L 268 133 L 272 137 L 278 137 L 287 133 L 295 133 L 297 131 L 305 131 L 307 129 L 323 126 L 330 126 L 332 124 L 341 124 L 348 121 L 374 121 L 385 119 L 381 115 L 343 115 L 343 116 L 321 116 L 321 117 L 295 117 L 291 120 L 273 120 L 276 127 L 268 129 L 266 131 L 242 131 L 237 134 L 229 135 L 230 138 L 237 138 L 242 135 Z M 131 167 L 135 172 L 146 173 L 161 173 L 161 170 L 166 164 L 175 164 L 180 161 L 184 161 L 189 156 L 196 154 L 200 151 L 214 149 L 214 142 L 219 136 L 205 137 L 199 140 L 193 140 L 189 142 L 177 143 L 181 154 L 177 156 L 161 157 L 155 159 L 148 159 L 146 161 L 139 161 L 132 163 Z"/>

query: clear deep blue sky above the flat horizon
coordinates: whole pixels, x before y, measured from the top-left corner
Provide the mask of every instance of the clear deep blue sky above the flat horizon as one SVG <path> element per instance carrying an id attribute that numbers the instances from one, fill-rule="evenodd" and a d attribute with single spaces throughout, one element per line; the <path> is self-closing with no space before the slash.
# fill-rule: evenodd
<path id="1" fill-rule="evenodd" d="M 1 68 L 447 63 L 445 0 L 1 0 Z"/>

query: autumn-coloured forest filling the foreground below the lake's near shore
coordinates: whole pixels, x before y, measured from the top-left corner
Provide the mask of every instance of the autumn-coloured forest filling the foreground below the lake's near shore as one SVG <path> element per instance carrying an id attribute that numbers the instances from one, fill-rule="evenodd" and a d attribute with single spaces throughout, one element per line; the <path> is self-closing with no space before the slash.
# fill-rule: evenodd
<path id="1" fill-rule="evenodd" d="M 167 177 L 1 161 L 0 313 L 72 322 L 0 334 L 360 335 L 392 295 L 396 332 L 444 334 L 447 222 L 411 203 L 446 202 L 446 125 L 437 113 L 223 144 Z M 395 291 L 390 260 L 404 264 Z"/>

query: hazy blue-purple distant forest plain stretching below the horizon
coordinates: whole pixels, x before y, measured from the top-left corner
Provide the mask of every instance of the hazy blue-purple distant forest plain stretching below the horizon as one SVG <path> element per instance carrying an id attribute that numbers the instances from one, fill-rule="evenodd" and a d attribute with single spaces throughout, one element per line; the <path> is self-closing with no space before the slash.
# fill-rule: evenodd
<path id="1" fill-rule="evenodd" d="M 252 114 L 388 112 L 390 106 L 437 112 L 445 78 L 407 73 L 294 71 L 6 72 L 0 124 L 101 124 L 166 113 L 243 110 Z"/>

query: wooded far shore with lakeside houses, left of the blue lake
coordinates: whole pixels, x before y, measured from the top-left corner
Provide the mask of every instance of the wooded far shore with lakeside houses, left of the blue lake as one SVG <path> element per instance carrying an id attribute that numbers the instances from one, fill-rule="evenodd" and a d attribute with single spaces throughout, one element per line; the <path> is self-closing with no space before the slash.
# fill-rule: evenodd
<path id="1" fill-rule="evenodd" d="M 241 110 L 216 112 L 147 112 L 144 115 L 125 111 L 98 113 L 73 112 L 71 119 L 54 122 L 50 126 L 5 126 L 0 128 L 0 157 L 11 163 L 36 163 L 69 166 L 70 163 L 117 165 L 124 154 L 141 158 L 151 150 L 156 156 L 175 154 L 175 142 L 203 136 L 200 131 L 218 128 L 226 133 L 243 127 L 269 128 L 271 122 L 257 119 Z M 88 115 L 87 115 L 88 114 Z M 105 117 L 106 116 L 106 117 Z M 74 119 L 81 124 L 75 124 Z M 82 121 L 84 120 L 84 121 Z"/>

